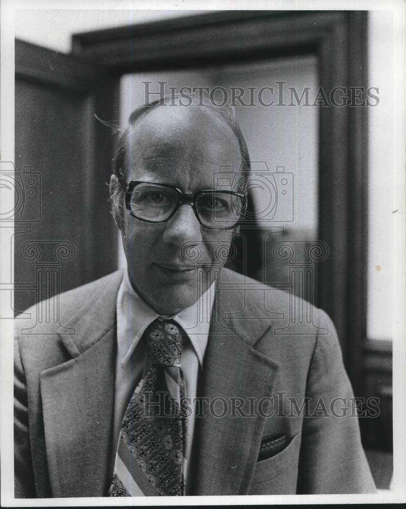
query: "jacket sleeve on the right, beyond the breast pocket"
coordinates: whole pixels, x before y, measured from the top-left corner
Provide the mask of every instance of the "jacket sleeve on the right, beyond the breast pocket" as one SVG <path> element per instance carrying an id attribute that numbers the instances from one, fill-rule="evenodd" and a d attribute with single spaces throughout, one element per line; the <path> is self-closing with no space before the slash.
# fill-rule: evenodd
<path id="1" fill-rule="evenodd" d="M 317 337 L 307 378 L 310 411 L 303 419 L 297 490 L 375 493 L 337 333 L 326 313 L 318 312 L 320 327 L 328 334 Z"/>

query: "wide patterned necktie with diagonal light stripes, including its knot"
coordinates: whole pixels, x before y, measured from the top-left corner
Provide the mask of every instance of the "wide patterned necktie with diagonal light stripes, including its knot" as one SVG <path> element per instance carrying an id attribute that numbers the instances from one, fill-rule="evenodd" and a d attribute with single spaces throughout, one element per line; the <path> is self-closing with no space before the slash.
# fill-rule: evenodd
<path id="1" fill-rule="evenodd" d="M 185 495 L 182 333 L 176 322 L 158 318 L 142 341 L 152 366 L 124 415 L 109 496 Z"/>

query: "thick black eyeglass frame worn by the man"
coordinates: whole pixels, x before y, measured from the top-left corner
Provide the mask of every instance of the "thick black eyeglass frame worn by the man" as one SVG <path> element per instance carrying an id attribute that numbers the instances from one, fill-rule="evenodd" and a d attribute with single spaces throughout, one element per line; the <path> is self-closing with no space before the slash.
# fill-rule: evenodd
<path id="1" fill-rule="evenodd" d="M 223 189 L 221 189 L 221 190 L 220 189 L 201 189 L 200 191 L 197 191 L 195 193 L 188 194 L 188 193 L 184 193 L 183 191 L 181 191 L 181 189 L 179 189 L 176 186 L 172 186 L 170 184 L 165 184 L 163 182 L 151 182 L 149 180 L 131 180 L 130 182 L 126 182 L 126 180 L 120 173 L 117 174 L 117 178 L 119 179 L 120 184 L 123 186 L 124 190 L 126 191 L 126 209 L 130 211 L 130 214 L 132 215 L 132 217 L 135 217 L 136 219 L 139 219 L 140 221 L 151 222 L 151 223 L 166 222 L 166 221 L 169 221 L 169 219 L 175 215 L 175 213 L 177 212 L 177 210 L 179 209 L 179 207 L 181 205 L 190 205 L 193 209 L 194 215 L 196 216 L 197 220 L 202 225 L 202 227 L 207 228 L 208 230 L 231 230 L 233 228 L 238 227 L 241 224 L 241 221 L 244 219 L 245 213 L 247 211 L 247 196 L 245 193 L 240 193 L 240 192 L 236 192 L 236 191 L 228 191 L 226 189 L 224 189 L 224 190 Z M 170 213 L 170 215 L 166 219 L 161 219 L 159 221 L 152 221 L 150 219 L 144 219 L 142 217 L 138 217 L 133 213 L 133 211 L 131 210 L 131 194 L 132 194 L 134 188 L 138 184 L 158 184 L 162 187 L 172 189 L 178 193 L 178 204 L 176 205 L 175 209 L 173 209 L 173 211 Z M 235 222 L 231 226 L 222 227 L 222 228 L 208 227 L 206 224 L 204 224 L 201 221 L 201 219 L 197 213 L 196 200 L 197 200 L 198 196 L 201 194 L 204 194 L 204 193 L 214 194 L 217 192 L 233 194 L 234 196 L 238 196 L 242 199 L 243 208 L 242 208 L 241 216 L 237 220 L 237 222 Z"/>

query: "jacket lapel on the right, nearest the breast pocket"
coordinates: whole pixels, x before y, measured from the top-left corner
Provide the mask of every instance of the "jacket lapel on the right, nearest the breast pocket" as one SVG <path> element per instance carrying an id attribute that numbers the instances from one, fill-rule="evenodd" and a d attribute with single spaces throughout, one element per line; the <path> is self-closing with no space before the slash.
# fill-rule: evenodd
<path id="1" fill-rule="evenodd" d="M 274 390 L 277 363 L 252 347 L 272 326 L 270 320 L 253 320 L 260 310 L 246 303 L 238 320 L 226 319 L 232 310 L 242 309 L 241 298 L 245 301 L 242 288 L 222 291 L 220 286 L 216 292 L 219 320 L 210 329 L 200 393 L 209 403 L 205 416 L 197 417 L 194 441 L 196 495 L 248 492 L 265 414 L 258 415 L 255 410 L 255 416 L 245 415 L 251 411 L 250 399 L 256 409 L 258 401 L 271 397 Z M 229 416 L 233 414 L 232 399 L 235 408 L 244 405 L 234 417 Z M 225 407 L 227 413 L 219 416 Z"/>

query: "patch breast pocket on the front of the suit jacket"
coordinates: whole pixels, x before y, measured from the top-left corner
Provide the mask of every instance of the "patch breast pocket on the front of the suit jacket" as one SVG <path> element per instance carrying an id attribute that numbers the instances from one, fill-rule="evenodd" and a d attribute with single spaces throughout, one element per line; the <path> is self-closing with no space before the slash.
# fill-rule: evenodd
<path id="1" fill-rule="evenodd" d="M 300 436 L 297 433 L 280 453 L 256 463 L 250 495 L 296 493 Z"/>

